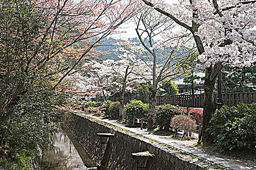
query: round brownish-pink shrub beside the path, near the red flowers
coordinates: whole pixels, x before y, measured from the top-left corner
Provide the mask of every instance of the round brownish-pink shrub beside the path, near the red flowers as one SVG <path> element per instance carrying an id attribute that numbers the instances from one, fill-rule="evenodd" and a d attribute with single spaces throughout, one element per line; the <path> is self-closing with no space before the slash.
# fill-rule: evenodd
<path id="1" fill-rule="evenodd" d="M 177 115 L 173 117 L 170 125 L 175 129 L 176 135 L 178 130 L 183 130 L 183 136 L 197 128 L 196 120 L 191 119 L 187 115 Z"/>

